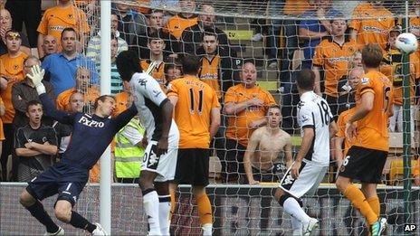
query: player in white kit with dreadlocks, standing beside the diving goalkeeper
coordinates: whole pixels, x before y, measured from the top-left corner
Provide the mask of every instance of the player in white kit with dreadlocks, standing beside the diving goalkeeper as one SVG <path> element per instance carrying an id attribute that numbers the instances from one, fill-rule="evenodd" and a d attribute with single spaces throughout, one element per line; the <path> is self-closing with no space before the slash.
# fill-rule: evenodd
<path id="1" fill-rule="evenodd" d="M 148 215 L 148 235 L 169 235 L 170 194 L 168 181 L 175 177 L 179 131 L 172 119 L 173 106 L 157 80 L 142 73 L 135 52 L 120 52 L 117 68 L 129 81 L 148 146 L 141 165 L 139 185 Z"/>

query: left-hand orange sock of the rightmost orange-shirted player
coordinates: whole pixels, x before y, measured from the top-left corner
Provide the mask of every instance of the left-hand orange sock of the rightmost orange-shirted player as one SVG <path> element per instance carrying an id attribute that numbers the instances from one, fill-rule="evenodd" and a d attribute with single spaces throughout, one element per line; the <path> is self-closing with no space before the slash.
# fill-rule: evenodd
<path id="1" fill-rule="evenodd" d="M 365 195 L 353 184 L 349 184 L 344 191 L 344 196 L 350 200 L 351 204 L 358 209 L 358 211 L 365 216 L 367 223 L 372 225 L 377 222 L 377 214 L 370 208 L 367 203 Z"/>

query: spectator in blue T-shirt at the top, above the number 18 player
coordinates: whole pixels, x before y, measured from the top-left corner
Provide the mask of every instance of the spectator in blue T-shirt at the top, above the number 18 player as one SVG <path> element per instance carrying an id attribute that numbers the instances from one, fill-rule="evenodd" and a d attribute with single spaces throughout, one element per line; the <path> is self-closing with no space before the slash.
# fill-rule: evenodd
<path id="1" fill-rule="evenodd" d="M 301 16 L 301 18 L 309 18 L 302 20 L 299 25 L 299 37 L 305 40 L 303 45 L 305 60 L 302 61 L 302 69 L 312 68 L 312 57 L 315 48 L 320 44 L 324 36 L 328 36 L 331 33 L 331 23 L 325 18 L 339 14 L 337 10 L 331 7 L 331 2 L 331 0 L 315 0 L 313 4 L 315 8 Z M 310 18 L 316 18 L 316 20 Z"/>

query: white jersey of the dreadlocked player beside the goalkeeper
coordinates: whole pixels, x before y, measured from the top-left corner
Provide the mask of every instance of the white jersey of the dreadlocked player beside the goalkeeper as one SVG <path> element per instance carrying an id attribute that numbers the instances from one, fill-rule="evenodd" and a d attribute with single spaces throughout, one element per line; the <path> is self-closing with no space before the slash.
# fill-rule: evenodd
<path id="1" fill-rule="evenodd" d="M 146 127 L 148 141 L 158 141 L 162 136 L 162 117 L 160 106 L 167 99 L 165 92 L 160 89 L 157 80 L 147 73 L 135 73 L 130 82 L 134 103 L 138 109 L 141 124 Z M 169 102 L 168 100 L 165 102 Z M 177 124 L 172 119 L 169 130 L 168 144 L 177 147 L 179 131 Z"/>

